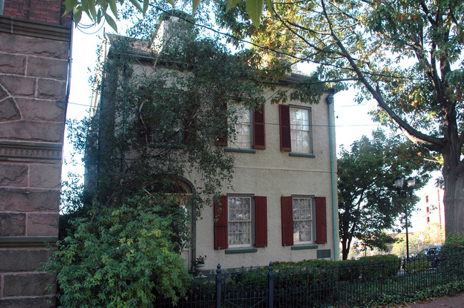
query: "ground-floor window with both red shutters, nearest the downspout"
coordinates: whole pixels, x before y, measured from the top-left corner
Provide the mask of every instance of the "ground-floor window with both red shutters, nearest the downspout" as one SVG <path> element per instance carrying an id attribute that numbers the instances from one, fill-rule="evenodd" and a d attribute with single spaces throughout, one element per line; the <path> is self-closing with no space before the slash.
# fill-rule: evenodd
<path id="1" fill-rule="evenodd" d="M 282 245 L 327 242 L 326 197 L 282 196 Z"/>

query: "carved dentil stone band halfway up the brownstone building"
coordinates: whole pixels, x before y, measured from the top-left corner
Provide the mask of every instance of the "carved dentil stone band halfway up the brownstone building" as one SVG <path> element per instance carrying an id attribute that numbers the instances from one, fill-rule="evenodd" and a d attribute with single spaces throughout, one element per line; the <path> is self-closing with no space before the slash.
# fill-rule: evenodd
<path id="1" fill-rule="evenodd" d="M 59 160 L 61 144 L 8 143 L 0 141 L 0 160 Z"/>

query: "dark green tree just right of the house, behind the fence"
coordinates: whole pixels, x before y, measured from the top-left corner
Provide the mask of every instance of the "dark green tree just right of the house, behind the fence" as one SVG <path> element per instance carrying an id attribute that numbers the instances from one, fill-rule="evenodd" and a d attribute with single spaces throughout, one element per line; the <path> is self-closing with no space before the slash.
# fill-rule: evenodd
<path id="1" fill-rule="evenodd" d="M 394 228 L 408 204 L 411 214 L 418 197 L 411 200 L 395 196 L 393 181 L 398 175 L 415 175 L 415 189 L 429 179 L 430 163 L 423 153 L 397 136 L 388 138 L 375 130 L 372 138 L 363 136 L 342 149 L 338 158 L 338 217 L 342 256 L 346 260 L 353 240 L 365 247 L 387 250 L 394 242 L 385 230 Z M 399 228 L 400 229 L 400 228 Z"/>

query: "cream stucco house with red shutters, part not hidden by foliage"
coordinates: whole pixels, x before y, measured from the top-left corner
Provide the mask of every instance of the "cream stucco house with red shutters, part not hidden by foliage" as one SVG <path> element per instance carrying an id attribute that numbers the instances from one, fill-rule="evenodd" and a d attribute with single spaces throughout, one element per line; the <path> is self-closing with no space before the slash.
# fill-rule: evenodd
<path id="1" fill-rule="evenodd" d="M 160 21 L 154 36 L 161 42 L 167 22 Z M 106 36 L 101 61 L 109 61 L 115 37 Z M 136 43 L 147 67 L 149 45 Z M 290 73 L 281 86 L 304 77 Z M 104 103 L 102 91 L 108 89 L 95 91 L 95 110 Z M 231 188 L 217 202 L 211 197 L 211 207 L 191 224 L 193 245 L 183 251 L 189 269 L 199 255 L 207 256 L 205 270 L 338 257 L 333 91 L 313 105 L 273 104 L 271 96 L 268 91 L 259 110 L 239 108 L 236 135 L 216 145 L 233 155 L 235 173 Z M 194 174 L 179 180 L 182 193 L 195 194 L 193 183 Z"/>

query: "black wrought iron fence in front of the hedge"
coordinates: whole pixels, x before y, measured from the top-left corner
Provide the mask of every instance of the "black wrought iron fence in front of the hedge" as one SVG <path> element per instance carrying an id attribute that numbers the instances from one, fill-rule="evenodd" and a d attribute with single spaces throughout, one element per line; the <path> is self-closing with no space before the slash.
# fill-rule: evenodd
<path id="1" fill-rule="evenodd" d="M 388 298 L 405 298 L 423 289 L 464 279 L 464 256 L 391 262 L 332 262 L 324 267 L 221 269 L 193 277 L 176 307 L 368 307 Z M 156 307 L 173 307 L 169 299 Z"/>

